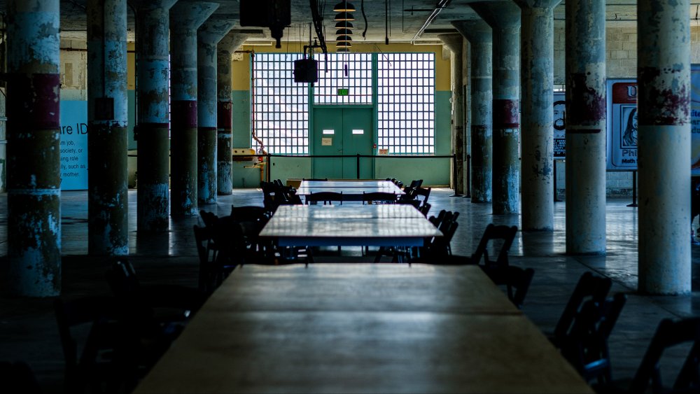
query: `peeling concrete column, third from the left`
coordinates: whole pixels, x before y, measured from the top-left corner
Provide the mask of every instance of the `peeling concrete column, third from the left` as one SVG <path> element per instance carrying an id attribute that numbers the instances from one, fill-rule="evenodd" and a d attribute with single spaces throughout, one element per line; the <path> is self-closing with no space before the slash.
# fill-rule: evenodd
<path id="1" fill-rule="evenodd" d="M 177 0 L 137 0 L 137 229 L 168 230 L 169 33 Z"/>

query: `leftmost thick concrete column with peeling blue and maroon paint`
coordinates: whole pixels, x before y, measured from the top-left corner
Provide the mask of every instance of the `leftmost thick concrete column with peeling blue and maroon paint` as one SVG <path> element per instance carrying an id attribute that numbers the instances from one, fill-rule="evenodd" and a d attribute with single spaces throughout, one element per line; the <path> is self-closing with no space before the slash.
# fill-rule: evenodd
<path id="1" fill-rule="evenodd" d="M 59 0 L 8 0 L 9 293 L 61 292 Z"/>

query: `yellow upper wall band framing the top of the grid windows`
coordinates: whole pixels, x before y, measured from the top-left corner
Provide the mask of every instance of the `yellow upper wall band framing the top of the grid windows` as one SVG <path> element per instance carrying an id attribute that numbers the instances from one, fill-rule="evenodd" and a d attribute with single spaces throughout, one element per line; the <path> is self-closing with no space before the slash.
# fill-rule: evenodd
<path id="1" fill-rule="evenodd" d="M 282 48 L 274 46 L 244 45 L 239 51 L 244 52 L 242 60 L 231 64 L 233 75 L 233 90 L 249 90 L 251 85 L 251 51 L 255 52 L 298 52 L 304 50 L 305 43 L 287 43 Z M 442 45 L 411 45 L 409 43 L 384 44 L 360 44 L 353 43 L 353 52 L 434 52 L 435 53 L 435 90 L 450 90 L 449 86 L 449 59 L 442 58 Z M 318 59 L 323 59 L 323 53 L 316 54 Z"/>

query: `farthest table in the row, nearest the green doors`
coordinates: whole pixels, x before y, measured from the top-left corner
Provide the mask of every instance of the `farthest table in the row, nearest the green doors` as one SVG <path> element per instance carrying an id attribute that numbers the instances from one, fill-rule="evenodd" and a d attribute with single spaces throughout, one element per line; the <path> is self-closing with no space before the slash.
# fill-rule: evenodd
<path id="1" fill-rule="evenodd" d="M 342 193 L 343 201 L 362 201 L 364 193 L 384 192 L 397 196 L 405 194 L 401 188 L 391 181 L 361 180 L 361 181 L 302 181 L 297 188 L 297 195 L 307 196 L 318 192 Z"/>

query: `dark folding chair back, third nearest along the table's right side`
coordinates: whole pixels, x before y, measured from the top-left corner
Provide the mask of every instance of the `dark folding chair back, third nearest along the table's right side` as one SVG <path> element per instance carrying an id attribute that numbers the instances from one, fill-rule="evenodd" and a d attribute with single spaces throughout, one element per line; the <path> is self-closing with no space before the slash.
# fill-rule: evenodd
<path id="1" fill-rule="evenodd" d="M 559 321 L 556 323 L 556 328 L 554 328 L 553 342 L 556 346 L 559 346 L 559 342 L 568 335 L 584 302 L 587 300 L 603 302 L 605 297 L 608 297 L 611 287 L 612 281 L 610 278 L 594 276 L 591 272 L 584 272 L 581 275 L 573 293 L 571 293 L 571 297 L 566 303 L 566 307 L 559 317 Z"/>

